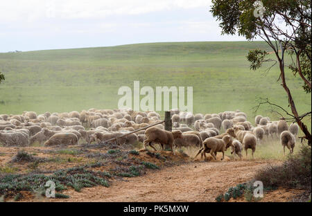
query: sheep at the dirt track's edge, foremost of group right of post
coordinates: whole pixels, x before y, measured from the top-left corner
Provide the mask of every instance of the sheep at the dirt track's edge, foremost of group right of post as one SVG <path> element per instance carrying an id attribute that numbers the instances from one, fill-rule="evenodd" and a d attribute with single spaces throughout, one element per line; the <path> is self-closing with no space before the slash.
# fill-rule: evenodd
<path id="1" fill-rule="evenodd" d="M 202 156 L 205 157 L 205 160 L 207 160 L 206 153 L 210 153 L 211 156 L 214 157 L 216 160 L 216 153 L 217 152 L 222 152 L 222 159 L 224 159 L 224 152 L 225 152 L 225 147 L 228 145 L 228 143 L 231 141 L 231 136 L 226 135 L 223 136 L 222 139 L 219 138 L 214 138 L 210 137 L 205 139 L 205 141 L 202 142 L 203 147 L 198 151 L 196 156 L 201 153 L 201 158 Z M 194 158 L 196 158 L 196 156 Z"/>

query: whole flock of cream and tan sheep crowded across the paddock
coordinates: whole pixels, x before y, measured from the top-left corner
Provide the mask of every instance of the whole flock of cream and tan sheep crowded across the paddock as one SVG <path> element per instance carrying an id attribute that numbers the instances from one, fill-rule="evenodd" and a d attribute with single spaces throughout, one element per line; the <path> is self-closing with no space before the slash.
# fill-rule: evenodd
<path id="1" fill-rule="evenodd" d="M 242 157 L 244 149 L 252 150 L 263 138 L 279 138 L 281 145 L 293 153 L 297 124 L 288 126 L 285 120 L 271 121 L 268 117 L 257 116 L 254 125 L 247 115 L 239 110 L 223 111 L 219 114 L 196 114 L 171 110 L 172 132 L 164 130 L 159 114 L 155 111 L 133 111 L 120 109 L 89 109 L 69 113 L 49 113 L 37 115 L 34 111 L 24 111 L 21 115 L 0 115 L 0 143 L 3 146 L 78 145 L 80 139 L 87 143 L 103 142 L 116 138 L 116 143 L 144 143 L 154 150 L 154 144 L 163 149 L 177 147 L 197 147 L 198 154 L 210 153 L 216 159 L 216 152 L 224 152 L 228 147 L 232 154 Z M 159 123 L 146 130 L 137 129 Z M 223 133 L 220 133 L 223 132 Z M 122 136 L 128 134 L 127 136 Z M 196 156 L 198 156 L 196 154 Z"/>

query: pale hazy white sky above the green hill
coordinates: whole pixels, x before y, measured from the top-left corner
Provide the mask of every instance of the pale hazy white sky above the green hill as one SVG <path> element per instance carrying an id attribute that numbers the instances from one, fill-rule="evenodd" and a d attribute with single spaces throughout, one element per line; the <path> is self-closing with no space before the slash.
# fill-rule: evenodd
<path id="1" fill-rule="evenodd" d="M 145 42 L 236 41 L 209 0 L 0 1 L 0 52 Z"/>

